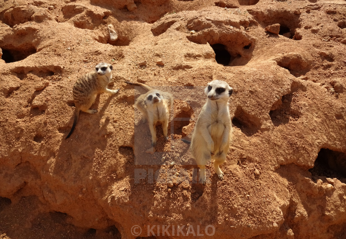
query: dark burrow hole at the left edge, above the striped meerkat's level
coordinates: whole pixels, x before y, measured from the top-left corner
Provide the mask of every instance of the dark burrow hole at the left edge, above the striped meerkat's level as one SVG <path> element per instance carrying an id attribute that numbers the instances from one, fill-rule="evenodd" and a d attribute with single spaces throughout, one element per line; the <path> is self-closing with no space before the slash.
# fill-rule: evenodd
<path id="1" fill-rule="evenodd" d="M 6 63 L 18 62 L 24 60 L 28 56 L 36 53 L 36 48 L 32 45 L 22 46 L 20 49 L 10 48 L 10 47 L 1 47 L 2 56 Z"/>

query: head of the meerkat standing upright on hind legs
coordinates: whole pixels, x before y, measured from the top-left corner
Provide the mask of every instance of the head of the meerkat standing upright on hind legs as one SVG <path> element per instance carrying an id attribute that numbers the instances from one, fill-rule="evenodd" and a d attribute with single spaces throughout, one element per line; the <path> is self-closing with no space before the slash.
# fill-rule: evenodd
<path id="1" fill-rule="evenodd" d="M 204 90 L 208 95 L 208 100 L 225 100 L 233 93 L 233 89 L 225 81 L 213 80 L 209 82 Z"/>

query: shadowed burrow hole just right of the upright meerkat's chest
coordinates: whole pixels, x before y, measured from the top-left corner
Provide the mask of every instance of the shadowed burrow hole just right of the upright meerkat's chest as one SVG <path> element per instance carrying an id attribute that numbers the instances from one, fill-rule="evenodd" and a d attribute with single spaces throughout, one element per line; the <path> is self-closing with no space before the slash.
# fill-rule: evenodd
<path id="1" fill-rule="evenodd" d="M 261 127 L 260 120 L 257 117 L 246 113 L 240 106 L 238 106 L 234 112 L 232 124 L 233 126 L 239 128 L 246 136 L 256 134 Z"/>

